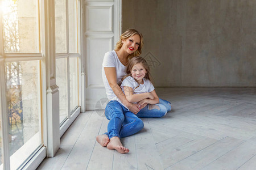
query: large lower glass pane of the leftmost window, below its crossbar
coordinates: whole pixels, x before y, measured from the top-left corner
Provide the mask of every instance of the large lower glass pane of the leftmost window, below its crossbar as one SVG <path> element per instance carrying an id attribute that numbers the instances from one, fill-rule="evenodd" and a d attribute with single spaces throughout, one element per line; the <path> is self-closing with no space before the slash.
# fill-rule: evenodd
<path id="1" fill-rule="evenodd" d="M 42 141 L 40 62 L 6 62 L 11 169 L 16 169 Z"/>

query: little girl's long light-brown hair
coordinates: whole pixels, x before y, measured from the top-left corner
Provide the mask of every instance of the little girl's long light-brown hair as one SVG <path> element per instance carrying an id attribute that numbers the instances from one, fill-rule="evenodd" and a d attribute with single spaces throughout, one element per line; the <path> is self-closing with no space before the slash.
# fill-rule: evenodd
<path id="1" fill-rule="evenodd" d="M 145 60 L 143 57 L 133 57 L 133 58 L 131 58 L 131 59 L 129 60 L 129 62 L 128 62 L 128 64 L 127 64 L 127 68 L 126 68 L 126 74 L 127 74 L 127 75 L 123 76 L 122 81 L 123 81 L 125 78 L 127 78 L 128 76 L 133 77 L 133 76 L 131 75 L 131 69 L 133 69 L 133 66 L 134 66 L 134 65 L 137 65 L 137 63 L 141 63 L 141 65 L 145 68 L 145 70 L 146 70 L 147 73 L 146 73 L 146 75 L 144 76 L 144 78 L 150 80 L 150 82 L 152 83 L 152 77 L 151 77 L 151 75 L 150 75 L 150 67 L 148 66 L 146 60 Z M 138 88 L 138 87 L 139 87 L 139 82 L 137 81 L 137 79 L 134 79 L 134 80 L 138 83 L 138 86 L 136 87 L 136 88 Z M 121 81 L 121 83 L 122 83 L 122 81 Z M 135 91 L 136 88 L 134 88 L 134 91 Z"/>

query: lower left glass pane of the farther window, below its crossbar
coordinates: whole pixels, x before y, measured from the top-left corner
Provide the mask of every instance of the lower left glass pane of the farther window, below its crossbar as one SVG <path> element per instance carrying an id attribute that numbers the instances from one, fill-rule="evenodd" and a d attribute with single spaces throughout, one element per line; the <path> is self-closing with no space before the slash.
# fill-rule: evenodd
<path id="1" fill-rule="evenodd" d="M 60 92 L 60 124 L 68 117 L 67 58 L 56 59 L 56 84 Z"/>

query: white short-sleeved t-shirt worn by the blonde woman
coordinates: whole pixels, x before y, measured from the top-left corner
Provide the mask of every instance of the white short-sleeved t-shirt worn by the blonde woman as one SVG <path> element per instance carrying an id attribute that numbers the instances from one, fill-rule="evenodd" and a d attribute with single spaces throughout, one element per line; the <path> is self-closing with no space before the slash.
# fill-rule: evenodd
<path id="1" fill-rule="evenodd" d="M 118 100 L 112 88 L 109 86 L 109 82 L 108 82 L 108 79 L 106 78 L 104 67 L 115 67 L 115 72 L 117 73 L 117 84 L 119 84 L 123 76 L 126 75 L 126 72 L 125 72 L 126 66 L 124 66 L 121 63 L 121 61 L 119 61 L 119 58 L 117 57 L 117 53 L 115 53 L 115 50 L 105 53 L 103 63 L 102 63 L 101 73 L 102 73 L 103 83 L 106 88 L 106 94 L 109 100 Z"/>

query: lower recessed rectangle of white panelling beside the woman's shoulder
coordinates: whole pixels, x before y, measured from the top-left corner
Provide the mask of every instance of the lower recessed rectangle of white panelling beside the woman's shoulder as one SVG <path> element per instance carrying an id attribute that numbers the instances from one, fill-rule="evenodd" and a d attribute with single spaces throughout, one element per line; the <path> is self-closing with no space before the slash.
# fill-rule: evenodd
<path id="1" fill-rule="evenodd" d="M 87 87 L 104 87 L 101 66 L 104 54 L 113 48 L 113 37 L 87 37 Z M 97 50 L 95 50 L 97 49 Z"/>

